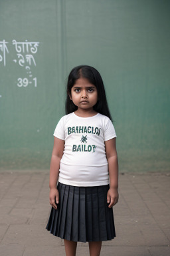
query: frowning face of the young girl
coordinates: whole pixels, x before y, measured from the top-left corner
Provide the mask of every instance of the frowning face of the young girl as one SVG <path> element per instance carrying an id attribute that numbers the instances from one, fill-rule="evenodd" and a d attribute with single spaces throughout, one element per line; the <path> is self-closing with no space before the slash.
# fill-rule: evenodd
<path id="1" fill-rule="evenodd" d="M 98 101 L 98 91 L 88 79 L 80 77 L 73 85 L 69 97 L 78 109 L 92 110 Z"/>

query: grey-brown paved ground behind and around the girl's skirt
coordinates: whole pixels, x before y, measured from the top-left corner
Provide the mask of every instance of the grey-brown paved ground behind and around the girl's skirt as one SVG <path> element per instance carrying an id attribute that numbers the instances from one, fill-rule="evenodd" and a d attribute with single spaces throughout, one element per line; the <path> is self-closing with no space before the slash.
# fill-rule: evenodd
<path id="1" fill-rule="evenodd" d="M 48 171 L 0 172 L 0 255 L 59 256 L 62 239 L 45 229 L 50 213 Z M 120 173 L 114 207 L 116 238 L 102 256 L 170 255 L 170 173 Z M 78 243 L 76 255 L 88 255 Z"/>

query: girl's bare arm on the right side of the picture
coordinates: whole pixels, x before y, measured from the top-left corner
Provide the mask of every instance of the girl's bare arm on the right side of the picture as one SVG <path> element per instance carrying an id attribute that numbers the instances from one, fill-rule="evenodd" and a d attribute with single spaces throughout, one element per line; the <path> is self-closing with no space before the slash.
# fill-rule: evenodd
<path id="1" fill-rule="evenodd" d="M 116 137 L 105 141 L 106 157 L 108 159 L 108 170 L 110 176 L 110 189 L 108 191 L 109 207 L 118 203 L 118 155 L 116 151 Z"/>

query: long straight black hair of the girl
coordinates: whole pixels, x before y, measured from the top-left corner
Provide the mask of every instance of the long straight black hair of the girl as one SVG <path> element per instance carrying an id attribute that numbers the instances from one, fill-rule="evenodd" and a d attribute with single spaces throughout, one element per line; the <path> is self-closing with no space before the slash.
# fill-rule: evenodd
<path id="1" fill-rule="evenodd" d="M 88 65 L 80 65 L 80 66 L 74 67 L 74 69 L 72 69 L 72 71 L 68 75 L 68 81 L 67 81 L 67 87 L 66 87 L 67 96 L 66 96 L 66 105 L 65 105 L 66 115 L 78 109 L 78 107 L 74 105 L 74 103 L 70 100 L 69 95 L 71 95 L 71 89 L 76 83 L 76 80 L 79 79 L 80 77 L 88 79 L 88 81 L 93 85 L 95 85 L 97 88 L 98 101 L 96 105 L 94 105 L 93 109 L 102 115 L 106 115 L 107 117 L 110 118 L 111 121 L 113 121 L 108 108 L 108 102 L 106 99 L 106 93 L 105 93 L 102 77 L 100 73 L 96 69 L 94 69 L 94 67 L 90 67 Z"/>

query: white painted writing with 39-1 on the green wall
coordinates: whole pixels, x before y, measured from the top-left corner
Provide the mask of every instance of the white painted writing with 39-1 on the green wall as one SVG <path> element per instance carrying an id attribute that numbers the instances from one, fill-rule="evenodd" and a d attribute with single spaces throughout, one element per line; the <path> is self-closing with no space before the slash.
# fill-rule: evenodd
<path id="1" fill-rule="evenodd" d="M 19 77 L 17 79 L 17 87 L 27 87 L 33 85 L 37 87 L 37 77 L 33 77 L 32 70 L 33 67 L 36 67 L 35 55 L 38 51 L 40 42 L 33 41 L 16 41 L 12 40 L 11 45 L 14 47 L 16 52 L 16 58 L 12 59 L 14 64 L 19 65 L 22 69 L 25 69 L 25 77 Z M 10 42 L 5 41 L 4 39 L 0 41 L 0 66 L 3 65 L 6 67 L 9 64 L 10 55 L 9 52 Z"/>

